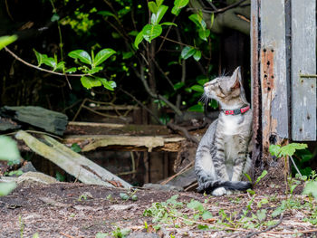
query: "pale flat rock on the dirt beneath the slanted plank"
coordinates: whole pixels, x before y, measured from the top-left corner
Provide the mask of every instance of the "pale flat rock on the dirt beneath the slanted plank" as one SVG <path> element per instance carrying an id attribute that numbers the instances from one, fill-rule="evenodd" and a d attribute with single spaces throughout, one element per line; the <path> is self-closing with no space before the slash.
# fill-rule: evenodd
<path id="1" fill-rule="evenodd" d="M 18 185 L 50 185 L 58 183 L 53 176 L 47 176 L 39 172 L 27 172 L 19 176 L 16 180 Z"/>

